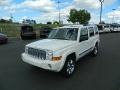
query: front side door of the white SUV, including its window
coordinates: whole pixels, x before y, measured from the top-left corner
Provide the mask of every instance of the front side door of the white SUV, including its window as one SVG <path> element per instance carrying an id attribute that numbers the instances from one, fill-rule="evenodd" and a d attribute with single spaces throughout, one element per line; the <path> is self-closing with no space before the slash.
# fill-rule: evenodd
<path id="1" fill-rule="evenodd" d="M 79 47 L 78 47 L 78 54 L 79 58 L 84 56 L 88 53 L 90 46 L 89 46 L 89 35 L 88 35 L 88 28 L 84 27 L 80 30 L 80 37 L 79 37 Z"/>

